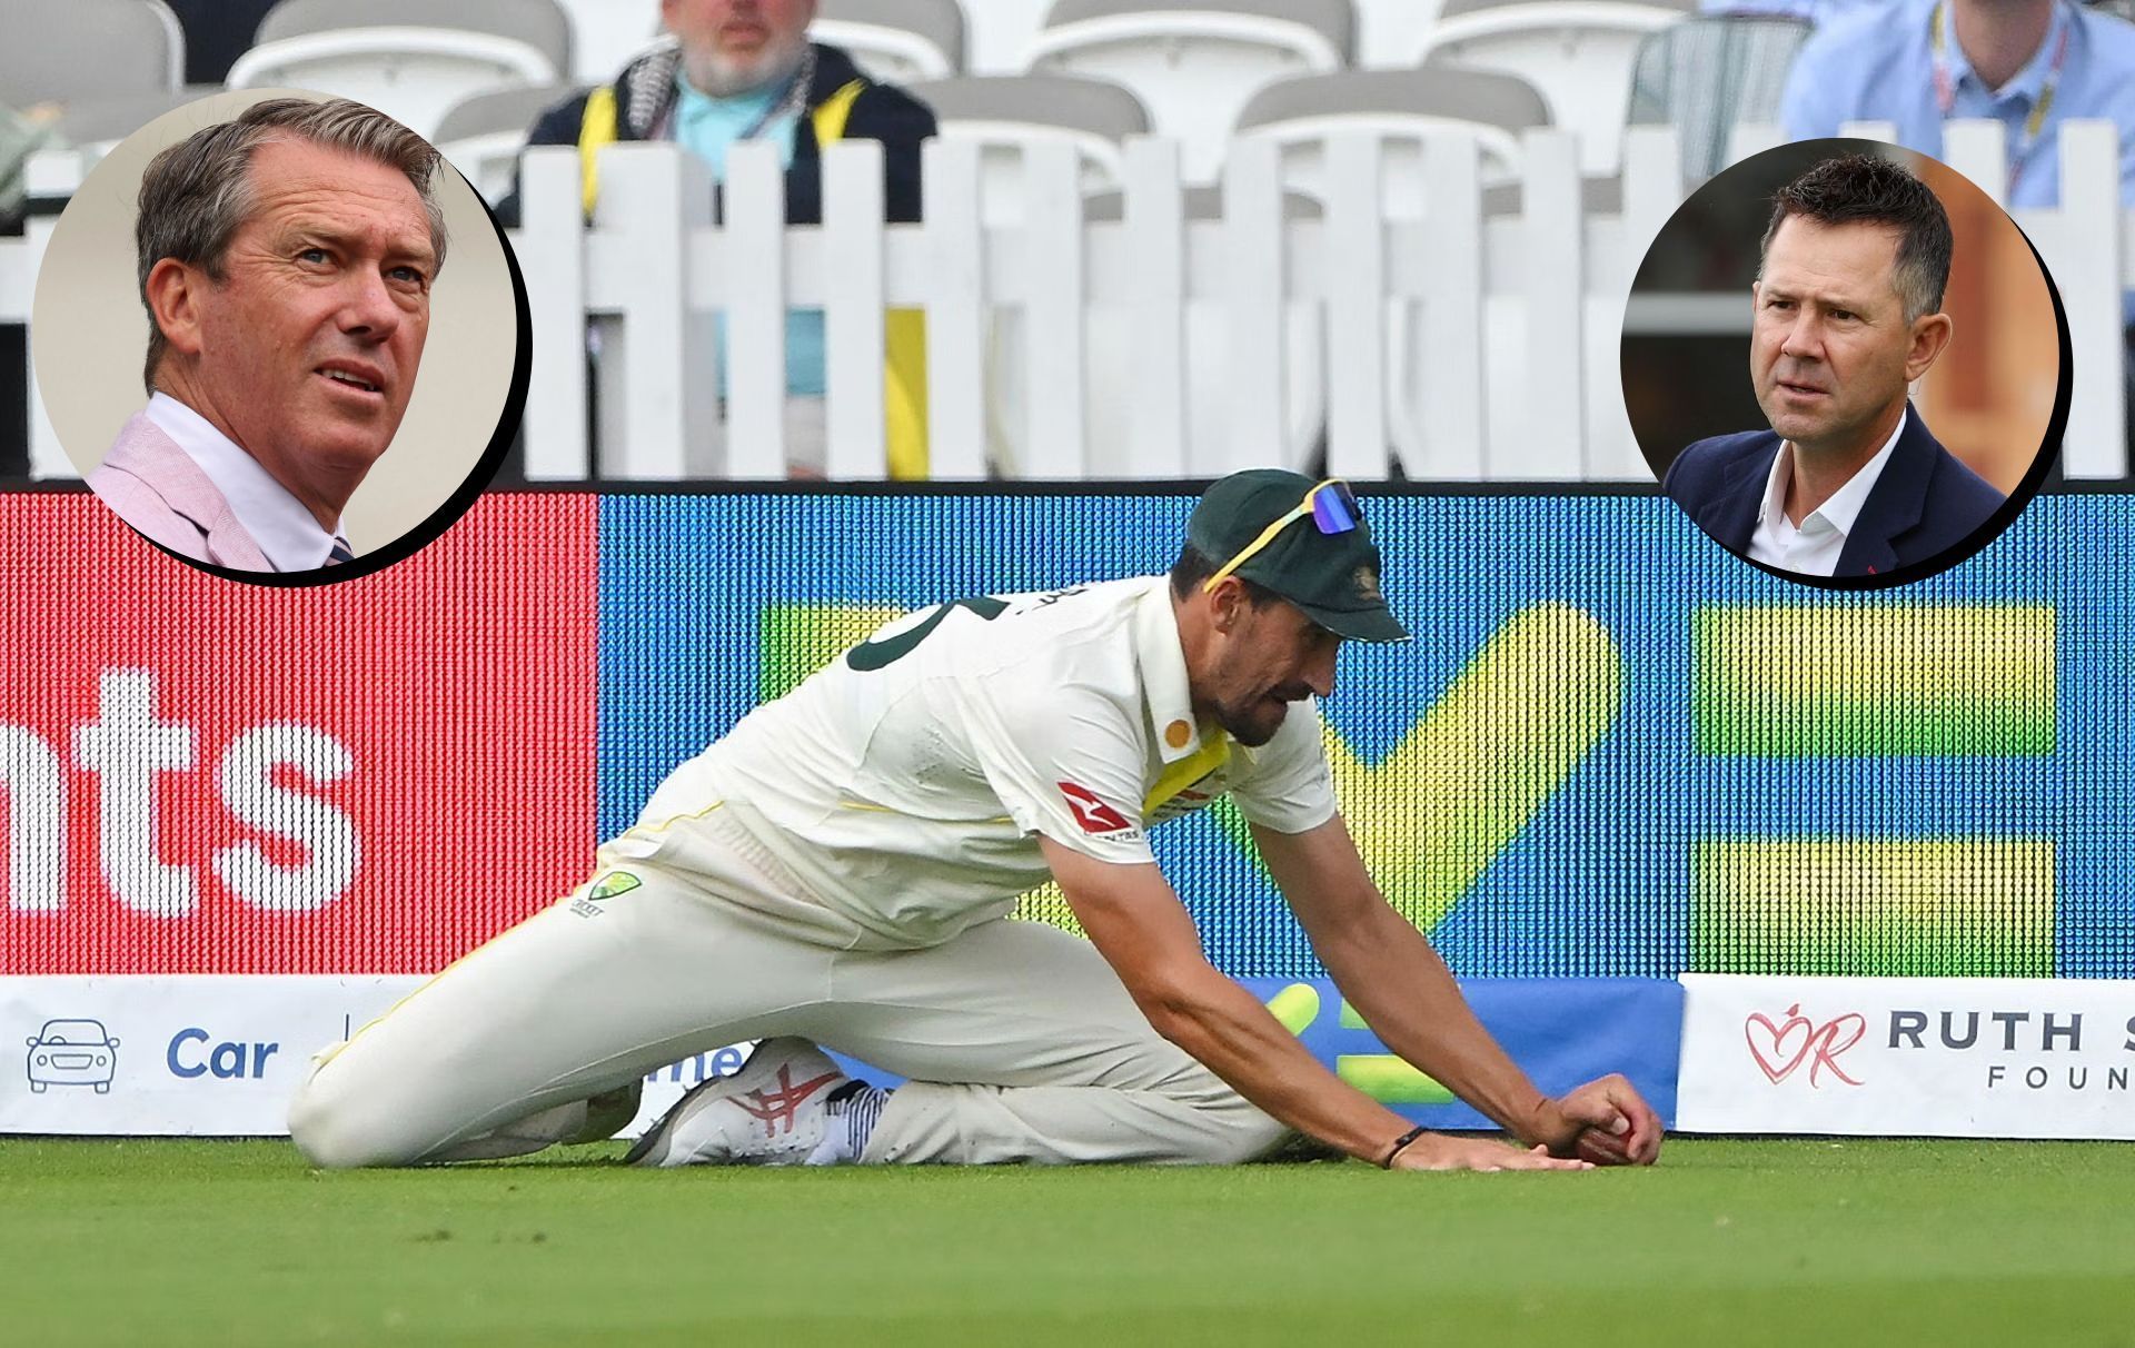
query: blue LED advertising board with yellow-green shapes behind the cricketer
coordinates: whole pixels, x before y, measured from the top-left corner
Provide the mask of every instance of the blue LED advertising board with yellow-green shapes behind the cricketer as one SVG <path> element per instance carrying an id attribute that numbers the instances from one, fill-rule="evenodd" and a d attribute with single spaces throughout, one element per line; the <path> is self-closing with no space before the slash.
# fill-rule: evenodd
<path id="1" fill-rule="evenodd" d="M 602 833 L 884 620 L 1161 573 L 1191 506 L 604 498 Z M 1744 566 L 1659 496 L 1364 515 L 1416 641 L 1341 652 L 1328 758 L 1375 880 L 1460 976 L 2135 976 L 2135 498 L 2043 496 L 1866 594 Z M 1217 968 L 1326 974 L 1232 810 L 1151 842 Z M 1057 893 L 1025 910 L 1072 925 Z"/>

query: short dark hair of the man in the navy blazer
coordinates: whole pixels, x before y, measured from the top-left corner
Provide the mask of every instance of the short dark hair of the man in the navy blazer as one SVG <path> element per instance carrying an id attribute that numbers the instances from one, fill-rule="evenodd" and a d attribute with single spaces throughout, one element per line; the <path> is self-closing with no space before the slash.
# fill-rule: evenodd
<path id="1" fill-rule="evenodd" d="M 1787 216 L 1806 216 L 1817 224 L 1881 224 L 1898 233 L 1898 258 L 1892 267 L 1892 288 L 1904 301 L 1904 320 L 1943 308 L 1949 286 L 1949 214 L 1943 201 L 1909 173 L 1875 154 L 1845 154 L 1815 164 L 1772 194 L 1772 222 L 1757 246 L 1757 278 L 1764 278 L 1764 254 Z"/>

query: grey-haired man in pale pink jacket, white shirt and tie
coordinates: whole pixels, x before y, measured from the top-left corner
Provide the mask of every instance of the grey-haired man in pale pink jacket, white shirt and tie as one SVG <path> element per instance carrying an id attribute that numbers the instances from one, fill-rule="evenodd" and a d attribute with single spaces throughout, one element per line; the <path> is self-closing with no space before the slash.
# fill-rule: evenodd
<path id="1" fill-rule="evenodd" d="M 342 511 L 429 335 L 436 167 L 418 135 L 342 98 L 256 103 L 149 162 L 149 404 L 90 474 L 120 519 L 237 570 L 352 560 Z"/>

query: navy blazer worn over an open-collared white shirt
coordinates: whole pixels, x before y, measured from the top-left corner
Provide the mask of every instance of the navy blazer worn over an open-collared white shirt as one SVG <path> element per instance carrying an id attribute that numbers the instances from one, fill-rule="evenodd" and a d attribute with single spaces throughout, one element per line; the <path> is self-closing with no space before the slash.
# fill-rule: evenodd
<path id="1" fill-rule="evenodd" d="M 1749 555 L 1778 444 L 1778 434 L 1768 429 L 1699 440 L 1667 466 L 1661 489 L 1721 547 Z M 1971 538 L 2003 500 L 1943 449 L 1907 404 L 1904 434 L 1868 489 L 1832 575 L 1887 575 L 1926 562 Z"/>

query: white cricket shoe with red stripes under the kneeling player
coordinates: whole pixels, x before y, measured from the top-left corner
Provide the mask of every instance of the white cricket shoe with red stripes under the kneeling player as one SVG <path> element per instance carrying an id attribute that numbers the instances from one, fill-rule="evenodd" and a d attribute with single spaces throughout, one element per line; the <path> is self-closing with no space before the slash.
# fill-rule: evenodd
<path id="1" fill-rule="evenodd" d="M 732 1077 L 690 1090 L 623 1158 L 634 1166 L 801 1166 L 843 1158 L 831 1094 L 850 1077 L 805 1038 L 766 1038 Z"/>

